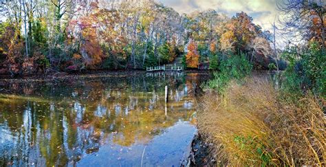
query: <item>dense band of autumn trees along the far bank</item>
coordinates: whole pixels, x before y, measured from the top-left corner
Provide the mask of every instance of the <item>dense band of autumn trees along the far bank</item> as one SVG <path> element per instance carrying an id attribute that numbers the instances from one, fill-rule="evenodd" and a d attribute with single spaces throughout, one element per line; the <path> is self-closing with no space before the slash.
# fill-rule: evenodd
<path id="1" fill-rule="evenodd" d="M 215 10 L 179 14 L 155 1 L 92 0 L 5 1 L 0 11 L 1 74 L 144 69 L 177 56 L 189 68 L 217 69 L 238 54 L 257 69 L 285 66 L 274 34 L 245 12 L 229 18 Z M 320 39 L 317 29 L 309 35 Z"/>

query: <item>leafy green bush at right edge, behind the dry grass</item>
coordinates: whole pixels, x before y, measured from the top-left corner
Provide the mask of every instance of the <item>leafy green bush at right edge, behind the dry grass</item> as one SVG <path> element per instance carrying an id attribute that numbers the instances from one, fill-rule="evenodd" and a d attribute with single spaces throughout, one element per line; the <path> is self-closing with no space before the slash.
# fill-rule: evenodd
<path id="1" fill-rule="evenodd" d="M 298 56 L 300 55 L 300 56 Z M 326 53 L 318 44 L 311 43 L 298 54 L 296 49 L 285 49 L 283 58 L 289 66 L 283 73 L 282 89 L 294 95 L 312 91 L 325 98 L 326 93 Z"/>

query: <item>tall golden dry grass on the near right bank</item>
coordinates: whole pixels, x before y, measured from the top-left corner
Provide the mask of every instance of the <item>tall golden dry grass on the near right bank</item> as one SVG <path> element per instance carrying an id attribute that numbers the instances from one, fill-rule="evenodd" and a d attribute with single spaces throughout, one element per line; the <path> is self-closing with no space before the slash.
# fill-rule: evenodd
<path id="1" fill-rule="evenodd" d="M 198 128 L 228 166 L 326 166 L 323 107 L 313 96 L 280 97 L 269 78 L 231 82 L 199 102 Z"/>

